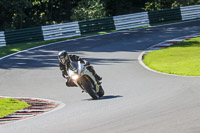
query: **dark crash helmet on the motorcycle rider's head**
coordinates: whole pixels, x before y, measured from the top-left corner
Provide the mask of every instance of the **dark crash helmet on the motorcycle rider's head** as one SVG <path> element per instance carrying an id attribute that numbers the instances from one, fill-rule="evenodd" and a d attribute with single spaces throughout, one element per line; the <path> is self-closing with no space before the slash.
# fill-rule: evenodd
<path id="1" fill-rule="evenodd" d="M 67 65 L 67 63 L 71 61 L 68 53 L 65 50 L 62 50 L 58 53 L 58 59 L 63 65 Z"/>

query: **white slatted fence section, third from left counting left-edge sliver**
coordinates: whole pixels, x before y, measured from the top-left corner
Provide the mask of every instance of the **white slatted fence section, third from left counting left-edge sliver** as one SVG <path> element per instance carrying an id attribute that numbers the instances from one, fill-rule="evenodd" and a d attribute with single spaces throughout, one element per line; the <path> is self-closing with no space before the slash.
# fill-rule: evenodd
<path id="1" fill-rule="evenodd" d="M 129 29 L 149 25 L 147 12 L 133 13 L 113 17 L 116 30 Z"/>

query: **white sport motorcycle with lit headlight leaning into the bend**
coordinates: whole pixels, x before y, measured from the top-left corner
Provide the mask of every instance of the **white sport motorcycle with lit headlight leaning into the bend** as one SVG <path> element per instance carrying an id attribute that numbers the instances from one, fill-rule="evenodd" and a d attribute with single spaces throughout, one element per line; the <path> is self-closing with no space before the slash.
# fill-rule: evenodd
<path id="1" fill-rule="evenodd" d="M 104 95 L 104 90 L 99 85 L 93 74 L 87 70 L 80 61 L 72 61 L 67 69 L 68 76 L 83 92 L 88 93 L 93 99 Z"/>

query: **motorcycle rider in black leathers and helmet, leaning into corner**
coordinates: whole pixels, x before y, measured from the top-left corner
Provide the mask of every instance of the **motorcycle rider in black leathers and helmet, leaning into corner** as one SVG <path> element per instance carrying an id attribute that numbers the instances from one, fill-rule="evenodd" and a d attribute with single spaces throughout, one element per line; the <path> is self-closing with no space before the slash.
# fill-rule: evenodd
<path id="1" fill-rule="evenodd" d="M 77 55 L 68 55 L 68 53 L 65 50 L 62 50 L 58 53 L 58 59 L 59 59 L 59 67 L 62 71 L 62 76 L 64 78 L 67 78 L 66 86 L 73 87 L 76 86 L 76 84 L 69 78 L 67 74 L 67 69 L 70 67 L 71 61 L 80 61 L 81 63 L 86 66 L 86 68 L 93 74 L 98 84 L 101 84 L 100 80 L 102 79 L 99 75 L 96 74 L 93 66 L 90 65 L 90 63 L 82 58 L 80 58 Z"/>

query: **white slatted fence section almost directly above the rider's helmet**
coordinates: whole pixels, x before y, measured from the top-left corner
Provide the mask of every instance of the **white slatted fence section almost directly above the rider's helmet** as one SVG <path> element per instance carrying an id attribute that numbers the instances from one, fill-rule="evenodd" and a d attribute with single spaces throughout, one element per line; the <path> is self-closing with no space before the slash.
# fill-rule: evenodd
<path id="1" fill-rule="evenodd" d="M 42 26 L 44 40 L 80 36 L 78 22 Z"/>

